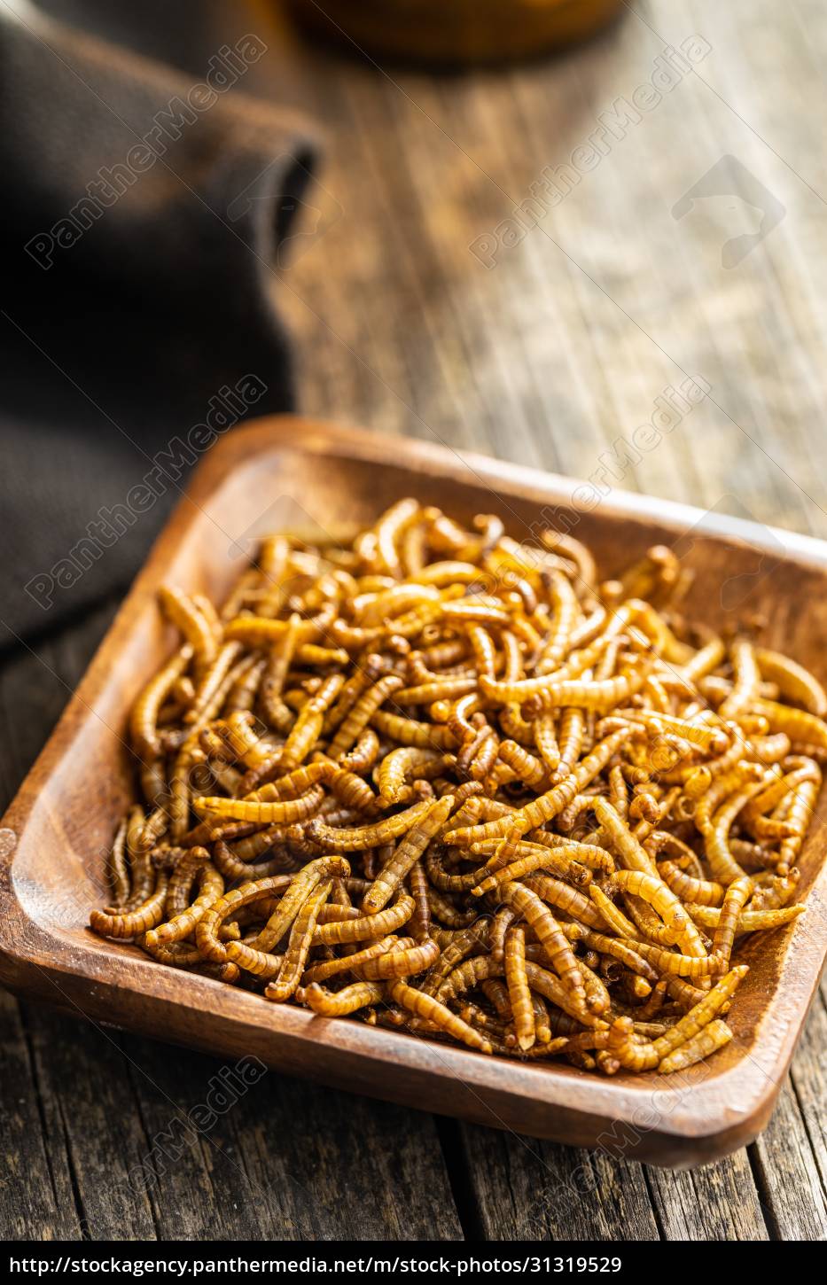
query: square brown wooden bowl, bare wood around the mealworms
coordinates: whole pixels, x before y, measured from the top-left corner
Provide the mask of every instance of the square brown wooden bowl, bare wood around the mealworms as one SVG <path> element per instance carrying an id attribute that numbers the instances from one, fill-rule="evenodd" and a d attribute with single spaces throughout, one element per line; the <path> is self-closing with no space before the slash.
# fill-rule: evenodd
<path id="1" fill-rule="evenodd" d="M 86 928 L 90 907 L 105 900 L 104 855 L 132 798 L 126 713 L 174 642 L 156 590 L 172 581 L 223 595 L 266 531 L 370 522 L 412 493 L 460 518 L 499 513 L 514 536 L 565 522 L 594 549 L 603 574 L 653 542 L 677 545 L 697 573 L 689 612 L 720 626 L 733 609 L 759 610 L 769 619 L 768 645 L 824 676 L 827 545 L 623 492 L 588 510 L 572 502 L 576 487 L 302 419 L 260 420 L 223 438 L 1 822 L 0 982 L 93 1022 L 255 1055 L 288 1074 L 518 1133 L 623 1148 L 656 1164 L 700 1164 L 751 1141 L 772 1112 L 827 948 L 824 795 L 801 857 L 806 914 L 741 951 L 751 971 L 728 1019 L 734 1038 L 684 1076 L 608 1079 L 316 1018 L 165 968 Z"/>

